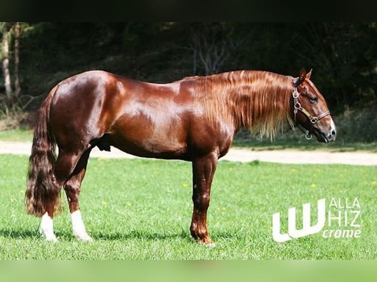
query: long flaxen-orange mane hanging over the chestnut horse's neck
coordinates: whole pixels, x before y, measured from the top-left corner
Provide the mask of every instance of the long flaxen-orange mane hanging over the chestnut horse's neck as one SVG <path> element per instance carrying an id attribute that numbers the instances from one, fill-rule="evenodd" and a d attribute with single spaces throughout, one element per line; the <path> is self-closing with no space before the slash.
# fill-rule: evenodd
<path id="1" fill-rule="evenodd" d="M 226 120 L 236 127 L 273 139 L 290 117 L 292 77 L 265 71 L 232 71 L 192 77 L 195 97 L 202 100 L 210 120 Z"/>

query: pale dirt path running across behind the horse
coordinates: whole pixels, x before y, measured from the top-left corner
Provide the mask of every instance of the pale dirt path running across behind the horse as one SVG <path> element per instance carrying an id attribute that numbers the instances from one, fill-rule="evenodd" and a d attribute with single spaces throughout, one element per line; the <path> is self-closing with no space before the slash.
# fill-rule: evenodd
<path id="1" fill-rule="evenodd" d="M 0 154 L 30 155 L 30 142 L 0 141 Z M 99 151 L 94 148 L 91 157 L 99 158 L 137 158 L 114 147 L 111 152 Z M 273 162 L 283 164 L 346 164 L 377 166 L 377 153 L 368 152 L 329 152 L 329 151 L 298 151 L 271 150 L 252 151 L 251 149 L 231 148 L 221 160 L 251 162 Z"/>

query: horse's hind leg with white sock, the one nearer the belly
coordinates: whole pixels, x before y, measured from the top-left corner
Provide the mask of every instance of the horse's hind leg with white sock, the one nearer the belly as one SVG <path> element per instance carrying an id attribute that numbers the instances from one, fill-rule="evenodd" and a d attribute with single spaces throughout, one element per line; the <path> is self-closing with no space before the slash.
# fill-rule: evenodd
<path id="1" fill-rule="evenodd" d="M 71 177 L 64 184 L 64 191 L 67 196 L 69 212 L 71 214 L 73 235 L 77 239 L 85 242 L 92 242 L 93 239 L 88 235 L 81 217 L 79 195 L 81 191 L 81 182 L 84 179 L 87 168 L 90 151 L 91 148 L 84 152 L 77 163 L 76 168 L 72 172 Z"/>

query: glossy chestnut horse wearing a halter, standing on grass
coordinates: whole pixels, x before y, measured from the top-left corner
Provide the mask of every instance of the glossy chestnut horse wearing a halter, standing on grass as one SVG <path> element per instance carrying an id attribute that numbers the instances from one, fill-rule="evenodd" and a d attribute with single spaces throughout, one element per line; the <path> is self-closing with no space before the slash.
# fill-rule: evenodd
<path id="1" fill-rule="evenodd" d="M 69 77 L 47 95 L 29 161 L 25 205 L 41 216 L 39 232 L 57 241 L 53 216 L 64 188 L 73 234 L 92 241 L 79 209 L 91 150 L 110 146 L 140 157 L 192 163 L 192 237 L 212 243 L 207 229 L 211 183 L 219 158 L 242 127 L 273 138 L 299 125 L 320 142 L 336 128 L 325 99 L 302 69 L 297 78 L 266 71 L 232 71 L 152 84 L 105 71 Z M 56 158 L 56 145 L 59 154 Z"/>

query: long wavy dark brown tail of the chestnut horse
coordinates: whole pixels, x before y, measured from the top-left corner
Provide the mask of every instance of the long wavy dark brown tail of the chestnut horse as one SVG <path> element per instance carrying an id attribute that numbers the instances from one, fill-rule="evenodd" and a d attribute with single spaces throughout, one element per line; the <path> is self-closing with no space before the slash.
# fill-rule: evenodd
<path id="1" fill-rule="evenodd" d="M 46 212 L 45 204 L 51 199 L 57 198 L 56 206 L 60 206 L 53 176 L 56 142 L 50 129 L 50 105 L 57 88 L 52 88 L 42 103 L 34 128 L 24 203 L 27 212 L 35 216 Z"/>

